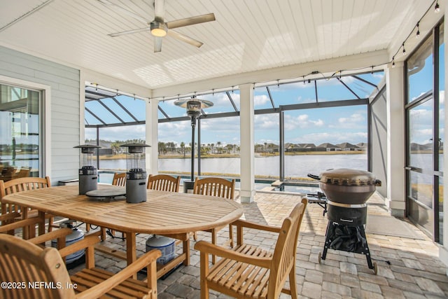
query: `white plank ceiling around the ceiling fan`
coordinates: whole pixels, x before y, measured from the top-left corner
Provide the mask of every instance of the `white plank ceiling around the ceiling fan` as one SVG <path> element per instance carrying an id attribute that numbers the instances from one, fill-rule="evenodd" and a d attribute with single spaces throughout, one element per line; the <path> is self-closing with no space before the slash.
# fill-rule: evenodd
<path id="1" fill-rule="evenodd" d="M 109 1 L 154 18 L 153 0 Z M 97 0 L 53 0 L 10 24 L 45 2 L 1 0 L 0 45 L 151 89 L 381 50 L 391 60 L 433 6 L 432 0 L 166 0 L 165 22 L 205 13 L 216 21 L 175 29 L 202 41 L 201 48 L 165 36 L 162 52 L 153 53 L 150 32 L 109 36 L 147 24 Z M 428 29 L 421 25 L 422 34 Z"/>

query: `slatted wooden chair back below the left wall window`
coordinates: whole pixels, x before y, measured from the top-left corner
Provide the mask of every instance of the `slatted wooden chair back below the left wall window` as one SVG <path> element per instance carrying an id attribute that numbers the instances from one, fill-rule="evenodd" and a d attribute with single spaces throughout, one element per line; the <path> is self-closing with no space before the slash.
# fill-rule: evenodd
<path id="1" fill-rule="evenodd" d="M 10 181 L 0 181 L 0 200 L 8 194 L 50 187 L 51 183 L 48 176 L 45 176 L 45 178 L 25 177 Z M 1 202 L 1 214 L 11 212 L 20 212 L 20 207 L 15 204 L 4 204 Z"/>

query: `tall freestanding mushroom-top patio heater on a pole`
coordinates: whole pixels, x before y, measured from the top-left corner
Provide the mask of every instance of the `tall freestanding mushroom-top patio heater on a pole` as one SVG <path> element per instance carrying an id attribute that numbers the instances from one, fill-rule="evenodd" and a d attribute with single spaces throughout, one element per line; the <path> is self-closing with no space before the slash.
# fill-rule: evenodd
<path id="1" fill-rule="evenodd" d="M 176 106 L 186 108 L 187 116 L 191 118 L 191 175 L 190 181 L 183 181 L 183 192 L 188 193 L 188 190 L 193 190 L 195 185 L 195 128 L 196 120 L 201 115 L 204 108 L 213 106 L 213 103 L 205 99 L 197 99 L 193 96 L 191 99 L 178 99 L 174 102 Z"/>

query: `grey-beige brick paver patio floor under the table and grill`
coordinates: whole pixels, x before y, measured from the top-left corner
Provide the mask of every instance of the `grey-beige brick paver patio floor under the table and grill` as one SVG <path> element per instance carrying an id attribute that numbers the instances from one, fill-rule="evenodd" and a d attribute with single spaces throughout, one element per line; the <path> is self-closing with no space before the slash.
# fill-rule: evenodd
<path id="1" fill-rule="evenodd" d="M 262 224 L 281 225 L 300 198 L 292 194 L 257 192 L 254 202 L 243 204 L 243 217 Z M 367 204 L 369 214 L 388 215 L 378 195 L 373 195 Z M 447 269 L 437 258 L 437 246 L 411 223 L 405 221 L 419 239 L 367 233 L 372 261 L 378 266 L 376 275 L 367 267 L 363 254 L 329 249 L 326 259 L 318 263 L 327 223 L 322 207 L 308 204 L 297 246 L 296 278 L 300 298 L 448 298 Z M 198 239 L 211 240 L 207 232 L 197 235 Z M 146 251 L 148 237 L 137 235 L 139 253 Z M 225 242 L 227 237 L 228 228 L 224 228 L 218 234 L 218 244 Z M 274 234 L 252 230 L 248 230 L 244 237 L 246 242 L 267 249 L 273 249 L 276 241 Z M 159 279 L 158 298 L 200 298 L 200 256 L 193 249 L 193 237 L 190 242 L 190 265 L 182 265 L 166 279 Z M 122 239 L 108 237 L 105 243 L 116 249 L 125 248 Z M 126 263 L 97 253 L 97 265 L 118 271 Z M 211 291 L 211 298 L 228 297 Z M 281 298 L 290 296 L 282 294 Z"/>

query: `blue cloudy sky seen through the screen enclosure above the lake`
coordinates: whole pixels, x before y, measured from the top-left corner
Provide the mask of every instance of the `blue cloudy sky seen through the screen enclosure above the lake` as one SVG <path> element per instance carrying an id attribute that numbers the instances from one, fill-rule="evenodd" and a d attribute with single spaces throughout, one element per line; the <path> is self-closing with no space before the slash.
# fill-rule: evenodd
<path id="1" fill-rule="evenodd" d="M 377 85 L 384 74 L 358 75 Z M 374 90 L 372 85 L 364 83 L 353 77 L 342 77 L 342 81 L 349 86 L 360 98 L 369 97 Z M 287 104 L 304 104 L 316 102 L 314 81 L 272 85 L 269 87 L 275 107 Z M 342 99 L 356 99 L 356 96 L 340 83 L 337 78 L 318 80 L 318 101 L 328 102 Z M 229 92 L 235 106 L 239 109 L 239 90 Z M 228 96 L 225 93 L 204 95 L 200 97 L 214 103 L 213 107 L 204 109 L 205 113 L 220 113 L 235 111 Z M 129 100 L 129 99 L 128 99 Z M 140 100 L 129 100 L 133 107 L 133 113 L 144 113 L 144 103 Z M 140 106 L 137 107 L 137 106 Z M 186 116 L 185 109 L 175 106 L 174 101 L 160 102 L 159 106 L 170 116 Z M 254 90 L 255 109 L 269 109 L 272 104 L 265 87 Z M 99 107 L 98 107 L 99 109 Z M 87 114 L 87 113 L 86 113 Z M 144 118 L 144 116 L 142 116 Z M 165 118 L 159 112 L 159 118 Z M 87 119 L 87 118 L 86 118 Z M 106 119 L 106 118 L 104 118 Z M 90 120 L 92 123 L 94 120 Z M 285 142 L 286 143 L 311 143 L 340 144 L 349 142 L 358 144 L 367 142 L 367 107 L 365 105 L 344 106 L 337 108 L 302 109 L 285 111 Z M 273 143 L 279 144 L 279 114 L 255 115 L 255 144 Z M 197 133 L 196 133 L 197 135 Z M 95 139 L 94 129 L 86 129 L 86 139 Z M 100 139 L 116 141 L 126 139 L 145 139 L 144 125 L 133 127 L 111 127 L 100 130 Z M 159 124 L 159 141 L 174 142 L 176 144 L 191 143 L 190 121 L 171 122 Z M 212 118 L 201 120 L 201 143 L 239 145 L 239 117 Z"/>

